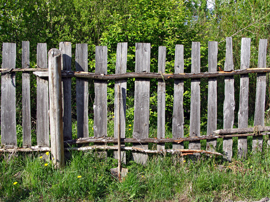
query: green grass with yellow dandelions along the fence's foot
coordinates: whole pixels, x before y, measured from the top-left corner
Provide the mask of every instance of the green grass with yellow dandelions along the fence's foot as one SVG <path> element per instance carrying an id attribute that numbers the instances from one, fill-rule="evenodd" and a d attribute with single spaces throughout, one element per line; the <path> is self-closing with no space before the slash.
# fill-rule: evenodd
<path id="1" fill-rule="evenodd" d="M 112 180 L 110 168 L 116 167 L 112 156 L 98 158 L 95 152 L 74 152 L 59 170 L 38 156 L 2 156 L 0 201 L 222 201 L 270 195 L 266 148 L 231 163 L 204 155 L 198 162 L 153 155 L 145 166 L 129 161 L 124 182 Z"/>

